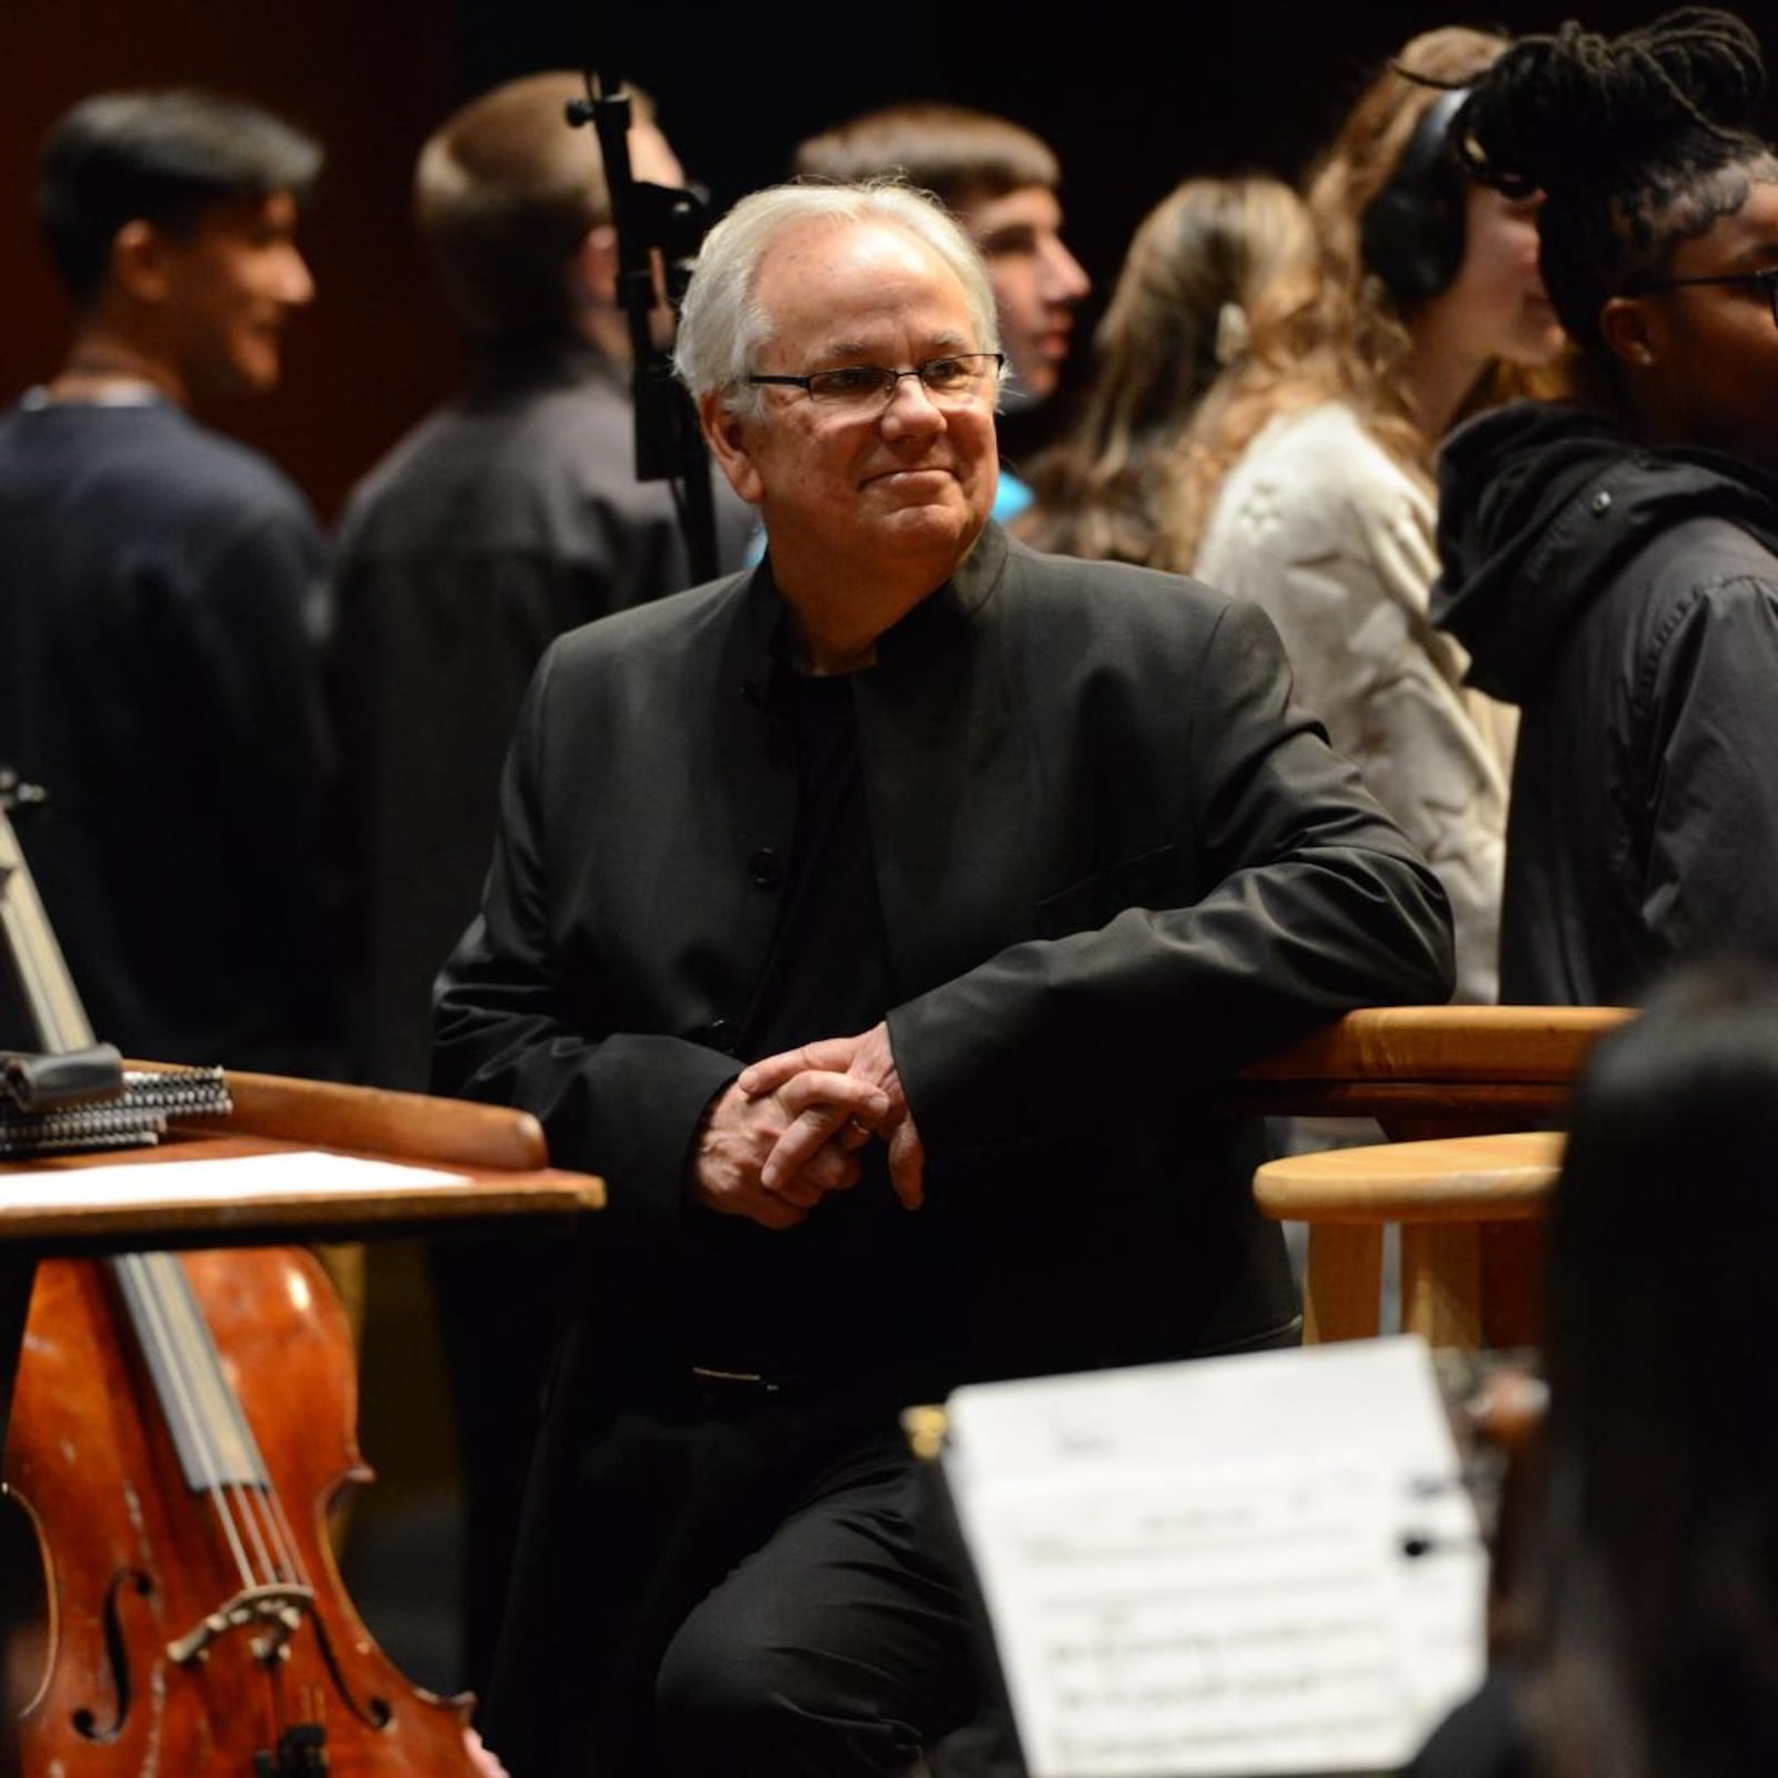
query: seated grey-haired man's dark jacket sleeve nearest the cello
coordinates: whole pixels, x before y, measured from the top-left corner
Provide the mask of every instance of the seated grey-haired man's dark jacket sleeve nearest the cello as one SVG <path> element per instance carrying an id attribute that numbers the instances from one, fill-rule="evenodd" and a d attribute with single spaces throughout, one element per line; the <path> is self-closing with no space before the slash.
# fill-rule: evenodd
<path id="1" fill-rule="evenodd" d="M 619 1033 L 555 981 L 542 736 L 553 654 L 526 693 L 500 795 L 482 912 L 439 974 L 432 1088 L 523 1106 L 558 1166 L 621 1181 L 601 1225 L 670 1241 L 706 1106 L 741 1065 L 676 1037 Z"/>

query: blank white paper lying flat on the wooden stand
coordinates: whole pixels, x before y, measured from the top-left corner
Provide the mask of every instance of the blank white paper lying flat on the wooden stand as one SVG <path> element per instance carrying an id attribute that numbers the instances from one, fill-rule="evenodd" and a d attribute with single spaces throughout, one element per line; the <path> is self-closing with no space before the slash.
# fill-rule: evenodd
<path id="1" fill-rule="evenodd" d="M 0 1209 L 206 1204 L 217 1197 L 284 1198 L 313 1191 L 404 1191 L 421 1186 L 468 1188 L 473 1181 L 462 1173 L 364 1161 L 350 1154 L 299 1150 L 213 1161 L 142 1161 L 128 1166 L 0 1173 Z"/>

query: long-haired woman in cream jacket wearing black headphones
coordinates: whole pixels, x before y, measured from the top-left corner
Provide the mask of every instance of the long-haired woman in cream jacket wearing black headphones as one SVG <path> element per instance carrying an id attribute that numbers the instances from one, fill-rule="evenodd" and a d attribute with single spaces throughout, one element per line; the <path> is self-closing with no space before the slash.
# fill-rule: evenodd
<path id="1" fill-rule="evenodd" d="M 1451 156 L 1447 89 L 1504 48 L 1424 32 L 1358 98 L 1307 187 L 1314 288 L 1202 404 L 1163 562 L 1273 617 L 1298 697 L 1451 896 L 1460 1001 L 1495 999 L 1511 720 L 1463 686 L 1462 647 L 1428 617 L 1431 462 L 1458 418 L 1565 345 L 1536 199 Z"/>

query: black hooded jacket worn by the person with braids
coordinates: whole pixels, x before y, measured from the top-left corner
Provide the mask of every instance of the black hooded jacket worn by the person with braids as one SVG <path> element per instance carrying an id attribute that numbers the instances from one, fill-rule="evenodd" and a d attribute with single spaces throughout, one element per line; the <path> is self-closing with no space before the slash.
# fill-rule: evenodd
<path id="1" fill-rule="evenodd" d="M 1778 477 L 1517 404 L 1438 475 L 1433 619 L 1520 706 L 1501 999 L 1778 955 Z"/>

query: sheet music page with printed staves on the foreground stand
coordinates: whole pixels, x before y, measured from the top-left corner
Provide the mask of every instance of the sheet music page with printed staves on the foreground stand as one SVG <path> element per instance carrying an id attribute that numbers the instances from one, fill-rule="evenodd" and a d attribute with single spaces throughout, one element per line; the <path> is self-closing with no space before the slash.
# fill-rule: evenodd
<path id="1" fill-rule="evenodd" d="M 1033 1778 L 1392 1769 L 1481 1680 L 1419 1339 L 976 1385 L 948 1421 Z"/>

